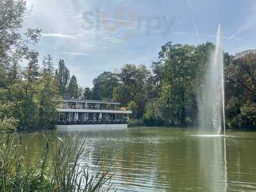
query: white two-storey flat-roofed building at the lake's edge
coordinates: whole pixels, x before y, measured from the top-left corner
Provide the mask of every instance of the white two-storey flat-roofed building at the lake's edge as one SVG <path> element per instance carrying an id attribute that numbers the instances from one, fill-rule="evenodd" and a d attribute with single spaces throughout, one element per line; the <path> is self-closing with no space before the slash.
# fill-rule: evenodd
<path id="1" fill-rule="evenodd" d="M 99 100 L 60 100 L 57 129 L 86 127 L 127 127 L 132 111 L 120 108 L 118 102 Z M 93 126 L 92 126 L 93 125 Z M 115 126 L 113 126 L 115 125 Z"/>

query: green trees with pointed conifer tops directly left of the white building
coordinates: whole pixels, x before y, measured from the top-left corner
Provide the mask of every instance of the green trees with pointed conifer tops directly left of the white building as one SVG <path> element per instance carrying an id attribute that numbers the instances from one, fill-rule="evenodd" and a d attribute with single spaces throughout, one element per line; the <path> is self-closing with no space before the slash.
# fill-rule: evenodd
<path id="1" fill-rule="evenodd" d="M 51 129 L 56 117 L 58 88 L 51 67 L 40 72 L 38 54 L 31 52 L 22 77 L 0 89 L 0 119 L 19 120 L 19 129 Z"/>

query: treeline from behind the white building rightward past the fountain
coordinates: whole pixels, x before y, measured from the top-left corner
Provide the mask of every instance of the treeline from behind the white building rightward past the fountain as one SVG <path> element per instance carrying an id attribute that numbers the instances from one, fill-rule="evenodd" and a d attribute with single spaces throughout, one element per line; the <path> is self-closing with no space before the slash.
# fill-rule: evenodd
<path id="1" fill-rule="evenodd" d="M 151 68 L 126 64 L 103 72 L 93 80 L 93 88 L 84 88 L 80 95 L 121 102 L 132 110 L 131 118 L 142 118 L 145 125 L 196 126 L 198 97 L 212 50 L 210 42 L 197 46 L 168 42 Z M 227 127 L 256 129 L 256 50 L 223 54 Z"/>

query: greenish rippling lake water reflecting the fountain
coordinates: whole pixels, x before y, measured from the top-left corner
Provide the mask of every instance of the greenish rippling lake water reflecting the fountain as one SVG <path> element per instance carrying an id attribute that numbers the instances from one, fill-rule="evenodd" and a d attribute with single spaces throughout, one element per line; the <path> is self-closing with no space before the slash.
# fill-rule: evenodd
<path id="1" fill-rule="evenodd" d="M 91 130 L 80 132 L 79 143 L 86 140 L 86 163 L 111 166 L 118 191 L 256 191 L 256 132 L 196 134 L 170 127 Z M 31 161 L 40 158 L 42 133 L 22 138 L 30 140 Z"/>

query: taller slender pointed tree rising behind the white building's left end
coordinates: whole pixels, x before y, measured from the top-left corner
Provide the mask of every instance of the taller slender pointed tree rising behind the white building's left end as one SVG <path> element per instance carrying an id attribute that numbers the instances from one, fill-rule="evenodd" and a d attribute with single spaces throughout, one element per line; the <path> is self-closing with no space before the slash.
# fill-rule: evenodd
<path id="1" fill-rule="evenodd" d="M 59 61 L 59 67 L 56 69 L 56 79 L 60 94 L 66 93 L 70 74 L 64 60 Z"/>

